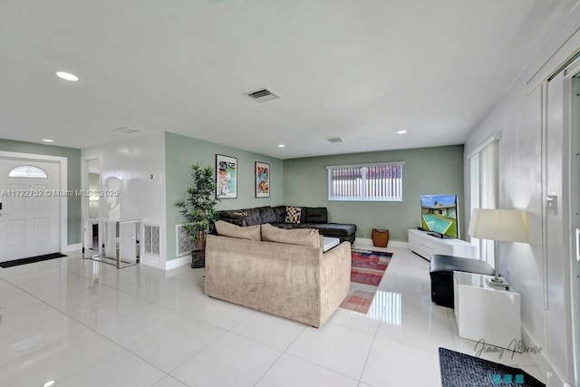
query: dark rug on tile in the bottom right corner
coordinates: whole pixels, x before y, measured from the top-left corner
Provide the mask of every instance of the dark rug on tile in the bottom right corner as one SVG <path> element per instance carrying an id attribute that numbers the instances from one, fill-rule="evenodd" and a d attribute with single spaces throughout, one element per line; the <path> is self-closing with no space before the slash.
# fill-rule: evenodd
<path id="1" fill-rule="evenodd" d="M 519 368 L 489 362 L 469 354 L 439 349 L 442 387 L 546 387 Z"/>

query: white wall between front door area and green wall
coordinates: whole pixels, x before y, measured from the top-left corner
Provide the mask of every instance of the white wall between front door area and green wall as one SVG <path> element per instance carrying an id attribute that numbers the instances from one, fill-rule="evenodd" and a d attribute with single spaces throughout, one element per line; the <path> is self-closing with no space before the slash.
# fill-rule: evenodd
<path id="1" fill-rule="evenodd" d="M 109 177 L 121 179 L 119 203 L 121 219 L 140 219 L 142 225 L 160 226 L 160 257 L 143 255 L 141 243 L 141 263 L 165 269 L 165 135 L 132 137 L 114 144 L 82 150 L 83 160 L 101 160 L 101 184 Z M 150 176 L 153 175 L 153 179 Z M 101 198 L 101 217 L 107 217 L 107 203 Z"/>

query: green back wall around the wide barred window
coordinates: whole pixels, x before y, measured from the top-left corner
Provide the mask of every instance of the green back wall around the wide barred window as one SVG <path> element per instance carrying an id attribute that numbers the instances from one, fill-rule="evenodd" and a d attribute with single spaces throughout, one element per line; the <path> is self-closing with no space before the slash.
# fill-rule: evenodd
<path id="1" fill-rule="evenodd" d="M 326 166 L 388 161 L 405 163 L 402 201 L 328 200 Z M 407 241 L 407 230 L 420 226 L 421 194 L 457 194 L 464 238 L 463 189 L 463 145 L 284 160 L 285 204 L 326 207 L 329 221 L 356 224 L 357 237 L 371 237 L 372 228 L 388 228 L 391 240 Z"/>

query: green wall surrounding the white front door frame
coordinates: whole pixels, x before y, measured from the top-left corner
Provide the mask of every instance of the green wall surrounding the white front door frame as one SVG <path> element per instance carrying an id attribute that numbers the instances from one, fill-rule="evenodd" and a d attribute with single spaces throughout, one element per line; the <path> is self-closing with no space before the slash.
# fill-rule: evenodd
<path id="1" fill-rule="evenodd" d="M 81 189 L 81 150 L 0 139 L 0 150 L 65 157 L 68 160 L 67 189 Z M 69 245 L 81 243 L 81 198 L 67 198 Z"/>

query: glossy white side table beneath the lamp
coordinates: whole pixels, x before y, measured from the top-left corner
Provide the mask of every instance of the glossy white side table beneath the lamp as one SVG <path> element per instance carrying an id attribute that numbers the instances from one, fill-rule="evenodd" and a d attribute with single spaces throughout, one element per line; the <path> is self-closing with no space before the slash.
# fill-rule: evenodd
<path id="1" fill-rule="evenodd" d="M 453 272 L 459 336 L 517 350 L 521 340 L 519 294 L 488 285 L 488 278 L 492 277 Z"/>

